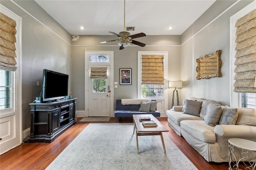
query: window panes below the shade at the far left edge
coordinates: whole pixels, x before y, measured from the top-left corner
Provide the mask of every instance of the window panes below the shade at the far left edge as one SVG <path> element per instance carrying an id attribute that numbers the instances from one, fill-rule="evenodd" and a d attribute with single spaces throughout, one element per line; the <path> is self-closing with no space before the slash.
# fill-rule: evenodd
<path id="1" fill-rule="evenodd" d="M 12 108 L 13 71 L 0 70 L 0 110 Z"/>

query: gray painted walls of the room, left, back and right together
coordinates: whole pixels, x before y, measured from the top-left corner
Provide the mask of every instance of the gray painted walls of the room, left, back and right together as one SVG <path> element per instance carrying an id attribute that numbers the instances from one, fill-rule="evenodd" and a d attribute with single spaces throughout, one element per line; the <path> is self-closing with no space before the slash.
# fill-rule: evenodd
<path id="1" fill-rule="evenodd" d="M 235 1 L 217 0 L 182 36 L 146 36 L 138 38 L 146 47 L 127 47 L 119 50 L 117 46 L 98 46 L 103 40 L 114 40 L 115 36 L 80 36 L 76 42 L 53 18 L 36 2 L 15 1 L 32 16 L 44 23 L 50 30 L 39 24 L 34 18 L 9 0 L 1 0 L 6 8 L 22 17 L 22 119 L 23 130 L 30 128 L 29 103 L 34 101 L 42 90 L 42 70 L 50 69 L 70 75 L 69 91 L 72 97 L 78 97 L 77 110 L 84 110 L 84 51 L 114 51 L 114 81 L 119 82 L 119 68 L 132 68 L 132 85 L 114 89 L 114 99 L 137 97 L 137 52 L 168 51 L 168 80 L 184 81 L 178 89 L 180 101 L 190 97 L 213 99 L 229 105 L 229 18 L 252 0 L 242 0 L 224 13 L 220 18 L 195 35 L 198 30 L 218 16 Z M 106 30 L 111 31 L 111 30 Z M 145 32 L 146 33 L 146 32 Z M 63 39 L 63 40 L 62 40 Z M 73 46 L 71 47 L 72 44 Z M 181 45 L 182 44 L 182 45 Z M 78 46 L 74 46 L 78 45 Z M 95 46 L 86 46 L 95 45 Z M 106 45 L 116 45 L 115 42 Z M 181 46 L 180 46 L 181 45 Z M 220 78 L 196 80 L 196 58 L 222 50 L 222 75 Z M 40 81 L 40 86 L 36 86 Z M 168 109 L 170 108 L 172 89 L 168 90 Z"/>

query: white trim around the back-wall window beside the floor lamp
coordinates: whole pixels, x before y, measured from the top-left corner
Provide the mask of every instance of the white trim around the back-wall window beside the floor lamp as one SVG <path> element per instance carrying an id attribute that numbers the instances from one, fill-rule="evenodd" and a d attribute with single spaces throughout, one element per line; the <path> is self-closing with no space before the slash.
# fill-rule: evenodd
<path id="1" fill-rule="evenodd" d="M 164 98 L 154 98 L 157 101 L 164 101 L 164 113 L 168 105 L 168 51 L 138 51 L 138 99 L 141 99 L 141 57 L 142 55 L 164 55 Z M 152 99 L 152 98 L 151 98 Z"/>

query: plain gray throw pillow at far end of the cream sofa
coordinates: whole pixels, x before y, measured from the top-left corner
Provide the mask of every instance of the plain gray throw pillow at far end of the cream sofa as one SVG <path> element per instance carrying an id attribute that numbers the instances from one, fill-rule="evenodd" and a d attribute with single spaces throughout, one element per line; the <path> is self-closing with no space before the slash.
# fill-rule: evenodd
<path id="1" fill-rule="evenodd" d="M 194 100 L 186 99 L 185 105 L 183 106 L 184 108 L 183 113 L 199 116 L 201 105 L 202 105 L 202 101 L 194 101 Z"/>

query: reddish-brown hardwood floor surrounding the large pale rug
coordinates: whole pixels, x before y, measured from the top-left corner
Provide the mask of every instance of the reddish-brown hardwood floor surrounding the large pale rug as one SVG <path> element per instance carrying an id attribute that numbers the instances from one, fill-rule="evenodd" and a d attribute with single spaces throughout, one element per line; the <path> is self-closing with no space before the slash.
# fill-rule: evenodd
<path id="1" fill-rule="evenodd" d="M 191 160 L 199 170 L 228 170 L 228 163 L 207 162 L 194 150 L 184 138 L 178 136 L 168 126 L 166 117 L 157 118 L 169 132 L 168 136 L 178 148 Z M 74 138 L 89 124 L 79 122 L 68 128 L 52 143 L 22 143 L 20 146 L 0 155 L 0 170 L 44 170 L 59 154 L 72 142 Z M 119 123 L 118 118 L 110 118 L 109 122 L 92 123 Z M 122 118 L 120 123 L 132 123 L 132 118 Z M 136 148 L 135 148 L 136 149 Z"/>

